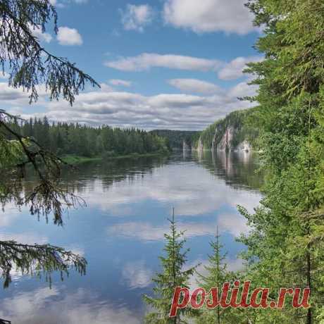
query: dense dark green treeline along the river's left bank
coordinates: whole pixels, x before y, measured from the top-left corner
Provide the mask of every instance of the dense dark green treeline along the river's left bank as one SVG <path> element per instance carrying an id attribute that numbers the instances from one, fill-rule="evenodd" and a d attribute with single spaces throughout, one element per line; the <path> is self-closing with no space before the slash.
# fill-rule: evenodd
<path id="1" fill-rule="evenodd" d="M 37 142 L 58 156 L 120 156 L 166 152 L 168 141 L 162 137 L 135 128 L 121 129 L 109 126 L 89 127 L 74 123 L 51 124 L 44 117 L 30 119 L 12 127 L 25 137 Z"/>

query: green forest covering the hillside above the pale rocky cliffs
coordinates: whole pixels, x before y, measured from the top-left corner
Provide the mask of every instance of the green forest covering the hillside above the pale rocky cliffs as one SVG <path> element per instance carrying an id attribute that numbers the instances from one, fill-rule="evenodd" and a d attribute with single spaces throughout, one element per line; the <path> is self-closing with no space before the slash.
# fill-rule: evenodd
<path id="1" fill-rule="evenodd" d="M 225 130 L 228 127 L 233 129 L 232 148 L 247 139 L 254 147 L 257 147 L 258 139 L 258 127 L 249 123 L 251 115 L 254 112 L 254 108 L 245 109 L 242 111 L 232 111 L 225 118 L 217 120 L 212 125 L 208 126 L 206 130 L 201 132 L 200 140 L 204 146 L 204 149 L 211 149 L 213 139 L 215 138 L 215 144 L 217 145 L 225 134 Z M 199 137 L 194 140 L 194 147 L 198 146 Z"/>

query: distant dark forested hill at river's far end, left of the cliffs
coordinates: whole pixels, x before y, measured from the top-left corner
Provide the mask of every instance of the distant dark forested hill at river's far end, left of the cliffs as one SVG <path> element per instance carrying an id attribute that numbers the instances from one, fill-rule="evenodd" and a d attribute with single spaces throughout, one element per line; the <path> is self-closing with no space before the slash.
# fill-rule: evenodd
<path id="1" fill-rule="evenodd" d="M 201 132 L 194 130 L 151 130 L 151 133 L 168 139 L 172 149 L 182 149 L 183 142 L 192 147 L 197 142 Z"/>

